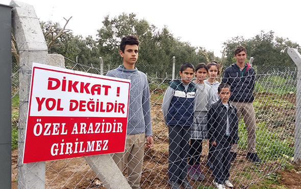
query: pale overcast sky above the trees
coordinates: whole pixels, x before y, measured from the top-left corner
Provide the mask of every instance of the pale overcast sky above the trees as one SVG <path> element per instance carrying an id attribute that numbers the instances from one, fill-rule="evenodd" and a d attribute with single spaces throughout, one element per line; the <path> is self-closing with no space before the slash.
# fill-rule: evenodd
<path id="1" fill-rule="evenodd" d="M 0 0 L 9 5 L 11 1 Z M 34 7 L 42 21 L 52 20 L 65 25 L 74 35 L 96 38 L 106 15 L 110 18 L 121 13 L 135 13 L 159 30 L 167 26 L 173 37 L 203 47 L 221 57 L 222 43 L 233 37 L 252 38 L 261 31 L 274 32 L 274 36 L 288 38 L 301 45 L 301 1 L 104 1 L 104 0 L 19 0 Z"/>

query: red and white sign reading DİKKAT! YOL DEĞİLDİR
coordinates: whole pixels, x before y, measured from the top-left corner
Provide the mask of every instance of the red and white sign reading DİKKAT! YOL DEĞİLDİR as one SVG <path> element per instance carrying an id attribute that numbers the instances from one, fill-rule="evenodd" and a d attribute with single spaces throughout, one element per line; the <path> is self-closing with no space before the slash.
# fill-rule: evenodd
<path id="1" fill-rule="evenodd" d="M 123 152 L 130 80 L 33 63 L 23 163 Z"/>

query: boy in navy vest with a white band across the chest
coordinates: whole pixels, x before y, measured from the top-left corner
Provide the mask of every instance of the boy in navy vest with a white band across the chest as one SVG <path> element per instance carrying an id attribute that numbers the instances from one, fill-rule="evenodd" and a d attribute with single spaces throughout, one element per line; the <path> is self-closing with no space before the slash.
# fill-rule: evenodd
<path id="1" fill-rule="evenodd" d="M 193 65 L 189 62 L 184 63 L 179 74 L 181 79 L 170 81 L 162 103 L 169 136 L 168 183 L 170 188 L 180 188 L 180 185 L 192 188 L 186 177 L 196 91 L 195 85 L 191 82 L 194 74 Z"/>

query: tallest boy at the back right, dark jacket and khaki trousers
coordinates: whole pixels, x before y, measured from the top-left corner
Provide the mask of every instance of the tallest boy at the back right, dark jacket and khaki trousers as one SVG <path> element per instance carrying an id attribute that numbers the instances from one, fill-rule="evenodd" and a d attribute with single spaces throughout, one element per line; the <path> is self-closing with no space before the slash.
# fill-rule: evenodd
<path id="1" fill-rule="evenodd" d="M 243 115 L 243 121 L 247 130 L 248 152 L 246 157 L 255 162 L 261 162 L 256 153 L 256 117 L 253 106 L 255 86 L 255 70 L 249 63 L 245 62 L 246 49 L 243 46 L 237 46 L 235 49 L 236 63 L 225 68 L 222 80 L 231 86 L 230 101 L 237 108 L 237 116 Z M 237 146 L 231 150 L 231 161 L 237 156 Z"/>

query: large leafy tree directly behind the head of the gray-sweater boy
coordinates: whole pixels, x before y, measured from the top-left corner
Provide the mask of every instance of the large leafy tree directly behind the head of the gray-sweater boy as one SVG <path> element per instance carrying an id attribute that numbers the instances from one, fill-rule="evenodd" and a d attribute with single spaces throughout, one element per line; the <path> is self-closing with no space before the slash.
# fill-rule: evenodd
<path id="1" fill-rule="evenodd" d="M 103 24 L 104 26 L 97 30 L 96 43 L 99 55 L 103 57 L 106 65 L 122 63 L 118 53 L 119 44 L 121 38 L 126 35 L 137 35 L 140 40 L 139 58 L 136 63 L 139 70 L 159 78 L 165 78 L 166 73 L 171 73 L 173 56 L 177 66 L 184 62 L 196 64 L 206 60 L 204 55 L 197 54 L 196 48 L 189 43 L 174 38 L 167 27 L 158 30 L 146 20 L 136 18 L 134 13 L 122 13 L 113 18 L 107 15 Z M 141 65 L 152 65 L 158 69 L 149 69 Z"/>

